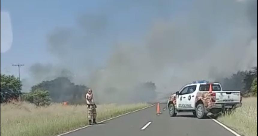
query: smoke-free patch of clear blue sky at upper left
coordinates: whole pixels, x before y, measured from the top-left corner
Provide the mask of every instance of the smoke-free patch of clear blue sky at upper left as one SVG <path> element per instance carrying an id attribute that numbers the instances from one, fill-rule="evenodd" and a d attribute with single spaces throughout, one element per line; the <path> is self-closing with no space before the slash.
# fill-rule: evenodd
<path id="1" fill-rule="evenodd" d="M 10 14 L 13 29 L 13 44 L 9 51 L 1 53 L 1 72 L 16 74 L 12 63 L 25 63 L 29 67 L 35 62 L 52 62 L 47 52 L 46 35 L 57 26 L 74 25 L 79 13 L 97 8 L 96 3 L 86 1 L 1 1 L 1 11 Z M 24 67 L 22 68 L 24 69 Z M 24 70 L 23 70 L 24 71 Z M 14 73 L 13 73 L 14 72 Z"/>

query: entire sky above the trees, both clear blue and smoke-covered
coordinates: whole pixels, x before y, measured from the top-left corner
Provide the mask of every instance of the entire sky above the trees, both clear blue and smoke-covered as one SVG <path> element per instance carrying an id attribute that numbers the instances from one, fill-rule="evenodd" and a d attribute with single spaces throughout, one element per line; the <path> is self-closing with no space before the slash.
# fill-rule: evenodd
<path id="1" fill-rule="evenodd" d="M 159 88 L 183 85 L 185 79 L 221 78 L 257 65 L 253 61 L 257 60 L 257 51 L 253 50 L 257 48 L 257 34 L 254 35 L 257 17 L 255 20 L 253 16 L 257 15 L 253 12 L 257 7 L 252 6 L 255 3 L 255 0 L 1 0 L 1 13 L 10 14 L 13 32 L 10 50 L 1 53 L 1 73 L 18 76 L 17 67 L 11 65 L 24 63 L 21 79 L 35 85 L 60 76 L 55 73 L 66 68 L 75 75 L 76 84 L 115 83 L 110 87 L 117 82 L 131 85 L 134 77 L 138 77 L 137 82 L 153 81 Z M 114 50 L 127 45 L 144 46 L 144 51 L 138 50 L 138 46 L 128 51 L 123 47 L 121 51 Z M 194 57 L 192 52 L 196 52 Z M 201 73 L 193 72 L 199 71 L 196 63 L 211 60 L 216 63 L 202 66 Z M 184 63 L 187 65 L 182 66 Z M 192 65 L 191 70 L 188 65 Z M 29 70 L 31 66 L 35 69 Z M 90 74 L 98 77 L 98 73 L 94 75 L 97 68 L 105 69 L 101 78 L 93 83 L 86 81 Z M 116 68 L 120 68 L 122 75 L 117 74 Z M 172 77 L 181 80 L 171 84 Z"/>

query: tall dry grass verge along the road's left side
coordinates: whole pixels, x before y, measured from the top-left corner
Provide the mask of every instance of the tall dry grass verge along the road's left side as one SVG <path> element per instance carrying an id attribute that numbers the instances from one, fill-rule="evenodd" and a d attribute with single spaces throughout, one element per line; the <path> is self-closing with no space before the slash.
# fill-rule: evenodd
<path id="1" fill-rule="evenodd" d="M 131 112 L 148 104 L 98 105 L 97 121 Z M 1 104 L 1 135 L 54 136 L 88 125 L 86 105 Z"/>

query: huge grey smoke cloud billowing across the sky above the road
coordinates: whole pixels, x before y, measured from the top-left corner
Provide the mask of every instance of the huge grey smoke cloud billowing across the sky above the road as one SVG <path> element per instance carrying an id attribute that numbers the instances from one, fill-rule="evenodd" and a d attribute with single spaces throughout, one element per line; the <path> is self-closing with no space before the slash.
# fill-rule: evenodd
<path id="1" fill-rule="evenodd" d="M 152 81 L 157 92 L 167 94 L 194 80 L 214 81 L 257 66 L 256 0 L 114 1 L 101 9 L 80 15 L 74 28 L 48 35 L 49 52 L 58 64 L 36 72 L 34 66 L 34 78 L 65 68 L 73 82 L 93 88 L 100 102 L 134 102 L 139 83 Z M 149 20 L 147 30 L 136 39 L 119 37 L 128 26 L 116 21 L 117 14 L 131 28 L 140 27 L 141 18 Z M 104 65 L 95 63 L 98 58 Z"/>

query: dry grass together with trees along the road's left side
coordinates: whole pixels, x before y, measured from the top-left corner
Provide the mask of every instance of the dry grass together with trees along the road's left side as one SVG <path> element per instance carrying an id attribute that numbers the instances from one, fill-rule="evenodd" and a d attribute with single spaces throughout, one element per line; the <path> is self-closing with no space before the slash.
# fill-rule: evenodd
<path id="1" fill-rule="evenodd" d="M 74 85 L 68 78 L 56 78 L 32 86 L 27 93 L 21 92 L 21 88 L 18 78 L 1 74 L 1 135 L 54 136 L 88 125 L 83 97 L 87 86 Z M 97 121 L 146 106 L 146 103 L 100 104 Z"/>

